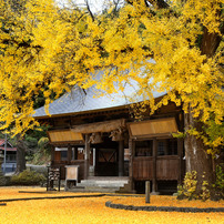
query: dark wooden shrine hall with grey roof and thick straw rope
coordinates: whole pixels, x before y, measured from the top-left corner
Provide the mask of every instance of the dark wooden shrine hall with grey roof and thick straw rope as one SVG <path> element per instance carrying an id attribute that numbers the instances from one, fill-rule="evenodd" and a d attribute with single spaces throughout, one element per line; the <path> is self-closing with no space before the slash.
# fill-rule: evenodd
<path id="1" fill-rule="evenodd" d="M 182 109 L 170 102 L 153 115 L 147 109 L 138 121 L 121 93 L 94 94 L 75 89 L 50 104 L 51 116 L 44 108 L 35 111 L 34 118 L 51 126 L 51 166 L 61 169 L 61 179 L 65 166 L 79 165 L 79 183 L 114 177 L 128 180 L 126 192 L 141 192 L 145 181 L 152 192 L 176 190 L 185 172 L 184 144 L 172 133 L 183 131 Z M 156 101 L 163 95 L 154 93 Z"/>

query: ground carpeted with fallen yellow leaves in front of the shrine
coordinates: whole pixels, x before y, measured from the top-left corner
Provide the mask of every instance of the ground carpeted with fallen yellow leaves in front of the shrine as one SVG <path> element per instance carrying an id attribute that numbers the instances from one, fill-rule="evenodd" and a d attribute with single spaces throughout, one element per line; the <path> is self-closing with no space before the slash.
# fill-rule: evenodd
<path id="1" fill-rule="evenodd" d="M 0 189 L 0 200 L 40 196 L 84 195 L 83 193 L 54 192 L 18 193 L 19 191 L 44 192 L 43 189 Z M 92 193 L 91 193 L 92 194 Z M 60 200 L 17 201 L 0 206 L 0 223 L 224 223 L 224 213 L 177 213 L 177 212 L 142 212 L 105 207 L 105 202 L 132 205 L 197 206 L 222 207 L 224 202 L 189 202 L 176 201 L 173 196 L 151 196 L 151 204 L 144 197 L 123 197 L 121 195 L 103 197 L 77 197 Z"/>

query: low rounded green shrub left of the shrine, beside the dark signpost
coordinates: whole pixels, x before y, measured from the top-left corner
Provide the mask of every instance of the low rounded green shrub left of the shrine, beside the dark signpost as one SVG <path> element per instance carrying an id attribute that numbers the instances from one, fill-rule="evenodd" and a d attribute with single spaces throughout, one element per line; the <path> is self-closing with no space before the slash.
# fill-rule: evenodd
<path id="1" fill-rule="evenodd" d="M 24 170 L 19 175 L 11 177 L 11 184 L 13 185 L 39 185 L 45 182 L 47 179 L 42 174 L 34 171 Z"/>

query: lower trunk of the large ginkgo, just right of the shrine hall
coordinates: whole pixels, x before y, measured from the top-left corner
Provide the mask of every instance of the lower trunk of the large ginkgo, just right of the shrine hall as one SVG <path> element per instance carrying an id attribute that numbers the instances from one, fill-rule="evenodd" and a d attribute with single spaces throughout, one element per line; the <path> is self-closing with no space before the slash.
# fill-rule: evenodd
<path id="1" fill-rule="evenodd" d="M 195 121 L 191 109 L 189 113 L 184 114 L 184 123 L 186 136 L 184 140 L 185 159 L 186 159 L 186 172 L 196 171 L 197 173 L 197 189 L 198 194 L 202 189 L 203 181 L 207 181 L 208 184 L 214 183 L 215 173 L 213 170 L 212 156 L 206 153 L 206 146 L 203 141 L 195 135 L 189 134 L 187 130 L 196 129 L 202 130 L 202 123 Z"/>

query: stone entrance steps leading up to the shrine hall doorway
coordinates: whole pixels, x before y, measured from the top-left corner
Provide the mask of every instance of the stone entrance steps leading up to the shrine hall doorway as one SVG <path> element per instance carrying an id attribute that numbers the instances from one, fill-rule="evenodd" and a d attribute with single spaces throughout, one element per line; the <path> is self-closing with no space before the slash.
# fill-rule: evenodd
<path id="1" fill-rule="evenodd" d="M 91 176 L 88 180 L 82 180 L 81 183 L 69 189 L 69 191 L 118 193 L 120 189 L 128 184 L 128 176 Z"/>

